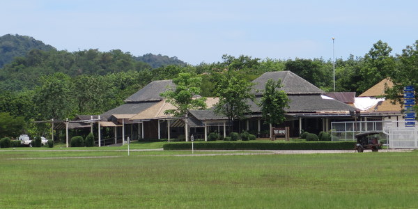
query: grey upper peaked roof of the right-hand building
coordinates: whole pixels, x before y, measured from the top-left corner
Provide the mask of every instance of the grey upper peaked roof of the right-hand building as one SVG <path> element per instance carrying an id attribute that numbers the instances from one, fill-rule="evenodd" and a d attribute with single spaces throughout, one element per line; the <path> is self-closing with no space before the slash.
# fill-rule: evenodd
<path id="1" fill-rule="evenodd" d="M 314 86 L 314 84 L 307 82 L 307 80 L 303 79 L 302 77 L 299 77 L 291 71 L 277 71 L 265 72 L 260 77 L 254 79 L 253 83 L 255 84 L 255 95 L 263 95 L 265 84 L 267 83 L 268 79 L 273 79 L 274 81 L 280 79 L 281 85 L 283 85 L 283 87 L 281 87 L 280 89 L 285 91 L 287 94 L 325 93 L 325 91 L 322 91 L 320 88 Z"/>

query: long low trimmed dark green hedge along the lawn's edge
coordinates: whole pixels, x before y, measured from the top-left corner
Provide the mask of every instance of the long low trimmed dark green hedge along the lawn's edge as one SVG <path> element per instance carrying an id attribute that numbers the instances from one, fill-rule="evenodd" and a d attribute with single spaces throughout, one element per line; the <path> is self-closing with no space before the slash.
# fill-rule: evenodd
<path id="1" fill-rule="evenodd" d="M 355 141 L 303 141 L 303 142 L 256 142 L 256 141 L 226 141 L 197 142 L 196 150 L 352 150 Z M 164 150 L 189 150 L 189 142 L 174 142 L 164 144 Z"/>

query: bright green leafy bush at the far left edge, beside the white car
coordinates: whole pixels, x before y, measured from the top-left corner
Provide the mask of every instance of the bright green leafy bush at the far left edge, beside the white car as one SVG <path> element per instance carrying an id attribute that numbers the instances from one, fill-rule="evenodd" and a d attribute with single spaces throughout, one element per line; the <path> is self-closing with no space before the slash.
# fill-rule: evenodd
<path id="1" fill-rule="evenodd" d="M 7 112 L 0 112 L 0 137 L 19 137 L 24 126 L 22 116 L 10 116 Z"/>

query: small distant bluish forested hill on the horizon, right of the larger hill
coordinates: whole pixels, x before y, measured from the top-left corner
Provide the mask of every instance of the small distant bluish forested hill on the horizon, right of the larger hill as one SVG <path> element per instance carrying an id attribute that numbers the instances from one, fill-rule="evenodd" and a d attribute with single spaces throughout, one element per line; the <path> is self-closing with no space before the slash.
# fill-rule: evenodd
<path id="1" fill-rule="evenodd" d="M 134 59 L 137 61 L 142 61 L 144 63 L 148 63 L 153 68 L 160 68 L 167 65 L 179 65 L 179 66 L 185 66 L 187 63 L 177 59 L 176 56 L 169 57 L 169 56 L 163 56 L 161 54 L 144 54 L 142 56 L 134 56 Z"/>

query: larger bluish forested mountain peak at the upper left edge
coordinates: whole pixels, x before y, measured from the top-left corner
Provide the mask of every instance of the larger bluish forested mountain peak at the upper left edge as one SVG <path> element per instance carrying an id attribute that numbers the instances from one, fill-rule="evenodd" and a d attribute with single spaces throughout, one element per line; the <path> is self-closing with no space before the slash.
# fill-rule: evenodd
<path id="1" fill-rule="evenodd" d="M 17 56 L 24 56 L 31 49 L 49 51 L 55 49 L 51 45 L 45 45 L 42 41 L 30 36 L 6 34 L 0 36 L 0 68 L 10 63 Z"/>

